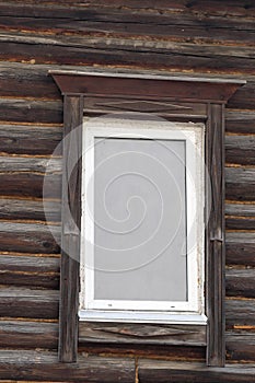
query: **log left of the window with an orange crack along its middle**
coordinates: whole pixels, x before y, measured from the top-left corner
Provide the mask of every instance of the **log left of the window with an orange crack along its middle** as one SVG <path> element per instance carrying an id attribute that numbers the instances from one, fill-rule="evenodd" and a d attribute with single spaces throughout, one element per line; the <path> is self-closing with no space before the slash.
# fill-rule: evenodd
<path id="1" fill-rule="evenodd" d="M 0 256 L 1 285 L 59 288 L 59 259 L 33 256 Z"/>

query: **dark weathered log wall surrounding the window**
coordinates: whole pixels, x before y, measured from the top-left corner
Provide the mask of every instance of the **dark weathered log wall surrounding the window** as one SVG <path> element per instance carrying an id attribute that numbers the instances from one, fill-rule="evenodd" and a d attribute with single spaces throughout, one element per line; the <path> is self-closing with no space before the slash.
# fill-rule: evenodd
<path id="1" fill-rule="evenodd" d="M 46 175 L 50 228 L 43 183 L 62 138 L 62 98 L 47 73 L 88 67 L 247 81 L 225 113 L 225 335 L 228 363 L 255 363 L 254 1 L 0 1 L 0 379 L 42 378 L 19 365 L 8 374 L 4 358 L 56 362 L 60 249 L 50 231 L 60 236 L 61 150 Z M 140 358 L 205 361 L 201 347 L 135 344 L 114 346 L 106 336 L 104 345 L 81 341 L 79 351 L 92 365 L 104 355 L 105 369 L 127 382 L 132 373 L 150 381 Z M 44 380 L 65 380 L 58 371 Z"/>

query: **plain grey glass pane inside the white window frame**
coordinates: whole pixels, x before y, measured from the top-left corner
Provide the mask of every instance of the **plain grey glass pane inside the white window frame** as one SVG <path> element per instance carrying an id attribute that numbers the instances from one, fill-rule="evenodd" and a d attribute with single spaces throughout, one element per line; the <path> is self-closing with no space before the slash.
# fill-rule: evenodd
<path id="1" fill-rule="evenodd" d="M 185 140 L 95 139 L 96 300 L 187 300 L 185 156 Z"/>

